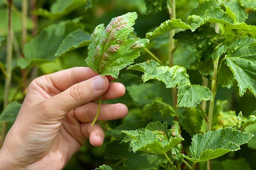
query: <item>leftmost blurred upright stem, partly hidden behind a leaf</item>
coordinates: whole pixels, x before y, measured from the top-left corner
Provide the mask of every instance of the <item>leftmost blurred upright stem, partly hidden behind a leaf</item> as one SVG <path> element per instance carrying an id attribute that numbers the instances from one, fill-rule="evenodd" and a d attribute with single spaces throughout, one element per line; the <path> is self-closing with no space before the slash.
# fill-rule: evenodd
<path id="1" fill-rule="evenodd" d="M 4 92 L 4 108 L 8 104 L 9 90 L 11 87 L 12 81 L 12 0 L 8 1 L 8 38 L 7 38 L 7 55 L 6 55 L 6 77 L 5 77 L 5 92 Z M 2 147 L 5 140 L 6 133 L 6 121 L 2 122 L 2 130 L 1 130 L 1 141 L 0 148 Z"/>

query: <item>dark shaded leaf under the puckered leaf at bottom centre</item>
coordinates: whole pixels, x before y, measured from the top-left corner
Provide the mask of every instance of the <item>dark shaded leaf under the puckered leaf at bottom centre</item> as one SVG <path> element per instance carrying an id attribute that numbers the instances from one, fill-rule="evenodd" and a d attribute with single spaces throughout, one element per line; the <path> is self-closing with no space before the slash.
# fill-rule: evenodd
<path id="1" fill-rule="evenodd" d="M 128 143 L 114 140 L 105 145 L 105 158 L 122 159 L 126 170 L 156 170 L 157 165 L 166 162 L 163 154 L 152 154 L 142 151 L 136 153 L 128 151 Z"/>

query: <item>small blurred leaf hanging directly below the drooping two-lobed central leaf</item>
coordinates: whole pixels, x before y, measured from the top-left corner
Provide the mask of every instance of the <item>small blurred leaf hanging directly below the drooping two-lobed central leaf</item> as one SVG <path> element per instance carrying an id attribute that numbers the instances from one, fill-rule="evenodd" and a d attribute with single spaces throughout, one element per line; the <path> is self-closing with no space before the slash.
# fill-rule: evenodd
<path id="1" fill-rule="evenodd" d="M 200 132 L 203 120 L 200 110 L 196 108 L 186 109 L 182 116 L 181 126 L 190 136 Z"/>

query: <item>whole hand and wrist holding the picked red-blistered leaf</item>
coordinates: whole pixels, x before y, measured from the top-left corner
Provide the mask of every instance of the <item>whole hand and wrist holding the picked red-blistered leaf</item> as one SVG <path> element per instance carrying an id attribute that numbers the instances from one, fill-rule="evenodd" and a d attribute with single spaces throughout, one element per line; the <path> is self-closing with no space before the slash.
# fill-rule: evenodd
<path id="1" fill-rule="evenodd" d="M 74 67 L 33 80 L 0 150 L 0 170 L 59 170 L 89 138 L 101 146 L 105 133 L 90 126 L 102 99 L 121 97 L 125 87 L 88 67 Z M 126 117 L 126 105 L 102 104 L 98 120 Z M 54 163 L 53 163 L 54 162 Z"/>

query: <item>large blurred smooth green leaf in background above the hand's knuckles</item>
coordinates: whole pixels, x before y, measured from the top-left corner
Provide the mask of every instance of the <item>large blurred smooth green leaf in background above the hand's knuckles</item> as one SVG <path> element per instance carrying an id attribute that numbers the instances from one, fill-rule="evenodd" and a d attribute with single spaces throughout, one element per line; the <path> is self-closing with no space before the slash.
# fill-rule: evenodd
<path id="1" fill-rule="evenodd" d="M 18 59 L 17 65 L 22 69 L 53 61 L 62 40 L 74 30 L 81 29 L 80 19 L 62 21 L 44 28 L 41 33 L 24 46 L 25 58 Z"/>

